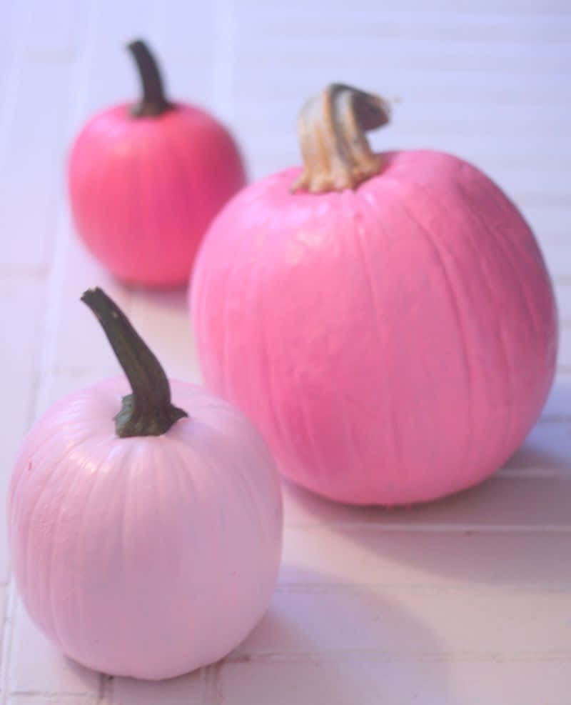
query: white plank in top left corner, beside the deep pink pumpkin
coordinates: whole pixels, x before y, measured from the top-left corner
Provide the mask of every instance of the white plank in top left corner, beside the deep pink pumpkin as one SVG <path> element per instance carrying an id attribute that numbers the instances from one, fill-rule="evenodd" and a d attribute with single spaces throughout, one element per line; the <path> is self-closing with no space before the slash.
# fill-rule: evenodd
<path id="1" fill-rule="evenodd" d="M 66 117 L 73 70 L 71 38 L 84 41 L 86 0 L 26 7 L 13 51 L 11 95 L 0 134 L 0 229 L 11 247 L 2 265 L 39 269 L 51 259 L 56 200 L 63 193 Z M 13 94 L 13 95 L 12 95 Z"/>

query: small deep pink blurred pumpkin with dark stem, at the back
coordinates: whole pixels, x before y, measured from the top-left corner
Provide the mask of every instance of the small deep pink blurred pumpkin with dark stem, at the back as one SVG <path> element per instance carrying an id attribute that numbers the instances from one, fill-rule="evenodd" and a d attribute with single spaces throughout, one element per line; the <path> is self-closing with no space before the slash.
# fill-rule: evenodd
<path id="1" fill-rule="evenodd" d="M 71 211 L 81 239 L 119 279 L 177 286 L 188 280 L 208 224 L 246 175 L 228 130 L 205 111 L 166 99 L 146 44 L 128 49 L 143 96 L 81 129 L 69 156 Z"/>

